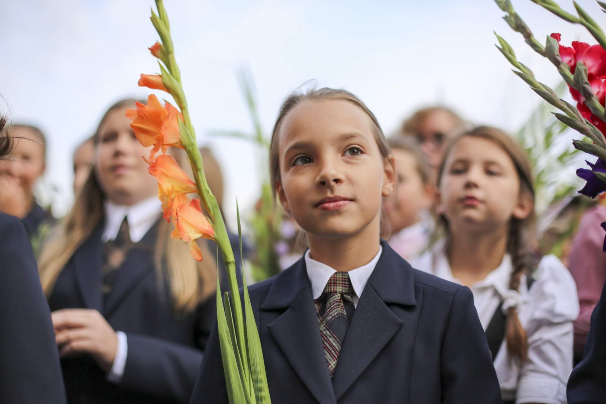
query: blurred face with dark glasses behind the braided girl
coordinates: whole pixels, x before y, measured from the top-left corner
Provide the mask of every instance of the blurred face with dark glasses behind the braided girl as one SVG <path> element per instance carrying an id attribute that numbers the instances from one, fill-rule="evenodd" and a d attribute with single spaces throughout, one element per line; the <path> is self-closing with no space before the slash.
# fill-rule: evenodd
<path id="1" fill-rule="evenodd" d="M 446 111 L 431 113 L 419 127 L 417 137 L 430 167 L 438 170 L 444 154 L 444 145 L 452 136 L 456 121 Z"/>

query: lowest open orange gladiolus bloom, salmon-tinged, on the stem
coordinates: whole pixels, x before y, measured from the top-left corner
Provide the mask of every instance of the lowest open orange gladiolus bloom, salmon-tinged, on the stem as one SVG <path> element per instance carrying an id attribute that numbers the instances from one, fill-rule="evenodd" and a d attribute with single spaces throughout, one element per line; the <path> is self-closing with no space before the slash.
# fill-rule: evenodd
<path id="1" fill-rule="evenodd" d="M 175 231 L 171 237 L 175 240 L 183 240 L 190 244 L 190 253 L 196 261 L 202 260 L 202 251 L 196 240 L 200 237 L 215 239 L 215 229 L 202 213 L 200 200 L 189 198 L 183 194 L 175 197 L 173 202 L 173 217 L 175 217 Z"/>

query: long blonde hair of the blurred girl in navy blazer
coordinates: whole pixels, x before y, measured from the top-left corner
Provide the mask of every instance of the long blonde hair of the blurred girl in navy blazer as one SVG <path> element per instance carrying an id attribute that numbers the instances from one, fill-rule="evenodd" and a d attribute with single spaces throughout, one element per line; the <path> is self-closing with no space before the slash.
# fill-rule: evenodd
<path id="1" fill-rule="evenodd" d="M 93 136 L 95 144 L 108 114 L 134 102 L 132 99 L 122 100 L 109 108 Z M 95 170 L 91 170 L 72 210 L 59 224 L 58 234 L 48 241 L 40 254 L 39 273 L 42 289 L 47 297 L 52 293 L 56 280 L 68 260 L 101 222 L 104 199 L 105 195 L 95 176 Z M 204 260 L 194 260 L 187 244 L 170 239 L 172 227 L 173 225 L 165 220 L 161 220 L 158 225 L 154 267 L 158 274 L 159 287 L 162 287 L 162 279 L 168 279 L 175 310 L 181 313 L 190 312 L 195 310 L 199 302 L 215 292 L 216 261 L 205 242 L 199 243 Z"/>

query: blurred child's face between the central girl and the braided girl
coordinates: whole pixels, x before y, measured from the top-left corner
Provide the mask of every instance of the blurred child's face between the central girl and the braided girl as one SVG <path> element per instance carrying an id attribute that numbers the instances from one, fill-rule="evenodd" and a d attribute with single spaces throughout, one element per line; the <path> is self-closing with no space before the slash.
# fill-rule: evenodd
<path id="1" fill-rule="evenodd" d="M 393 233 L 419 221 L 422 211 L 433 201 L 433 187 L 424 184 L 418 163 L 411 151 L 393 149 L 398 176 L 398 193 L 387 204 L 385 210 Z"/>

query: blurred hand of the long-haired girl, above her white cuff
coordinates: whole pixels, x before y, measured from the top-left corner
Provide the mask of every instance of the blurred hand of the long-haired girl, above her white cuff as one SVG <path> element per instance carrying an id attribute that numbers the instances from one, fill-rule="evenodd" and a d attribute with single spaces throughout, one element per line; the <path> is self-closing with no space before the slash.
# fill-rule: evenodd
<path id="1" fill-rule="evenodd" d="M 96 310 L 64 309 L 51 314 L 59 356 L 89 354 L 104 371 L 112 368 L 118 349 L 116 331 Z"/>

